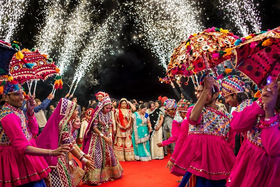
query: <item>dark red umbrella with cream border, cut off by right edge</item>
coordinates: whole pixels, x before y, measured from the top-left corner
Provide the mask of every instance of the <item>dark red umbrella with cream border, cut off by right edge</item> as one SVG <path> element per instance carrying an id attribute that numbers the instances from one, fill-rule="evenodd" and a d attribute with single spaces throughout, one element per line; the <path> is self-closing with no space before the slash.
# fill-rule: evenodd
<path id="1" fill-rule="evenodd" d="M 235 42 L 236 69 L 259 88 L 274 81 L 280 73 L 280 26 L 250 34 Z"/>

